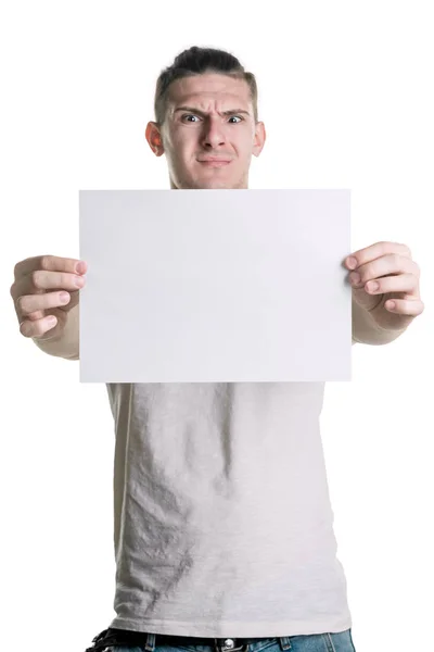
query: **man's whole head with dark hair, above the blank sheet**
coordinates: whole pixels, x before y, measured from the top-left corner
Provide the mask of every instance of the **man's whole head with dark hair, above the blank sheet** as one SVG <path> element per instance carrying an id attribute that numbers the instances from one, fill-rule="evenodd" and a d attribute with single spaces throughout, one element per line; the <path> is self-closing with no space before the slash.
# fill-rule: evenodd
<path id="1" fill-rule="evenodd" d="M 210 48 L 184 50 L 161 73 L 154 109 L 146 140 L 155 155 L 166 154 L 171 188 L 248 187 L 252 154 L 261 152 L 266 133 L 255 77 L 238 59 Z"/>

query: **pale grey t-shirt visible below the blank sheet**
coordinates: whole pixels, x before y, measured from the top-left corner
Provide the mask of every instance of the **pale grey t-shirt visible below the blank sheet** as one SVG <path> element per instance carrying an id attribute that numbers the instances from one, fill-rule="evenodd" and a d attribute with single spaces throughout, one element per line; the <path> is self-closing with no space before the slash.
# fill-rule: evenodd
<path id="1" fill-rule="evenodd" d="M 319 430 L 324 383 L 106 387 L 111 627 L 218 638 L 352 627 Z"/>

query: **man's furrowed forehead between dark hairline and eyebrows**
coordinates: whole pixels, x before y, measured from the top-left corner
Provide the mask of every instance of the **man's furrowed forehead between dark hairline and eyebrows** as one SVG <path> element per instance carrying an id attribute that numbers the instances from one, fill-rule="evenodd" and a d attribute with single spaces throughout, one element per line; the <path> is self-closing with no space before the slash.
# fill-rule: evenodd
<path id="1" fill-rule="evenodd" d="M 232 103 L 237 101 L 247 105 L 251 103 L 250 88 L 244 79 L 234 79 L 228 75 L 204 74 L 183 77 L 174 82 L 168 89 L 168 104 L 201 103 L 213 105 L 215 102 Z M 241 108 L 241 106 L 239 106 Z"/>

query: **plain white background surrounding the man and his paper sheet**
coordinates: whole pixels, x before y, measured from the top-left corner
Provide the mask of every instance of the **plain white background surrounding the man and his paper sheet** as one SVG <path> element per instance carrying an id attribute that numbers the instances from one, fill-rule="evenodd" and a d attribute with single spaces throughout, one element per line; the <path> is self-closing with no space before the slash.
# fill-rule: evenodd
<path id="1" fill-rule="evenodd" d="M 321 427 L 357 652 L 427 649 L 430 5 L 41 0 L 2 12 L 4 650 L 85 650 L 114 616 L 115 572 L 105 387 L 80 385 L 77 362 L 49 356 L 20 334 L 13 268 L 37 254 L 78 256 L 79 189 L 169 187 L 165 156 L 153 155 L 144 129 L 157 75 L 192 45 L 228 49 L 257 77 L 268 139 L 253 158 L 251 188 L 349 188 L 353 251 L 404 242 L 422 269 L 424 313 L 391 344 L 353 347 L 354 379 L 327 385 Z M 289 292 L 292 283 L 303 279 L 289 279 Z"/>

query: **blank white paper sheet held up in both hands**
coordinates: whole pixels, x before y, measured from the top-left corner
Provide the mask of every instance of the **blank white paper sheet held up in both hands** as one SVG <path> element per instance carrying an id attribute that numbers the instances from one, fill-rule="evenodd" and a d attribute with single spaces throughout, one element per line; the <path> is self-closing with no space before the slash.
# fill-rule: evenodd
<path id="1" fill-rule="evenodd" d="M 350 380 L 349 190 L 80 190 L 81 383 Z"/>

